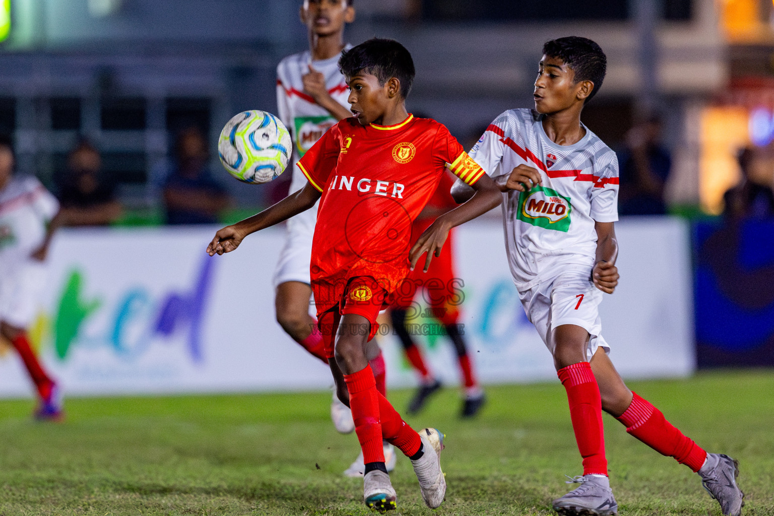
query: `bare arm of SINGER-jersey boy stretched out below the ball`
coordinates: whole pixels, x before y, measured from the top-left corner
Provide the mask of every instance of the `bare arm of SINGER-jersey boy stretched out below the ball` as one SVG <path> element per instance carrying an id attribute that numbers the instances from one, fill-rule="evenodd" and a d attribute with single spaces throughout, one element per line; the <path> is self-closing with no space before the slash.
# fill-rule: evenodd
<path id="1" fill-rule="evenodd" d="M 207 253 L 213 256 L 234 251 L 248 234 L 279 224 L 293 215 L 309 210 L 318 199 L 320 199 L 320 191 L 307 182 L 301 190 L 291 193 L 261 213 L 217 231 L 210 245 L 207 246 Z"/>

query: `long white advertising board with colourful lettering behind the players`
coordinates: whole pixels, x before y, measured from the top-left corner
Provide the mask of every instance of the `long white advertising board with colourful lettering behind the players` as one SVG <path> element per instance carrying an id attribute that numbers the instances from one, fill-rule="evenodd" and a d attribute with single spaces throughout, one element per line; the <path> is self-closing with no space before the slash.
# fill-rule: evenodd
<path id="1" fill-rule="evenodd" d="M 272 273 L 282 228 L 238 251 L 204 252 L 214 227 L 68 230 L 56 238 L 50 280 L 30 334 L 68 395 L 327 388 L 327 367 L 275 321 Z M 687 226 L 679 220 L 618 224 L 621 286 L 602 303 L 603 333 L 628 378 L 694 369 Z M 556 378 L 513 286 L 502 227 L 457 230 L 461 323 L 485 383 Z M 430 320 L 417 323 L 432 323 Z M 420 326 L 421 327 L 421 326 Z M 417 336 L 433 370 L 457 382 L 446 337 Z M 413 374 L 398 340 L 380 337 L 392 386 Z M 29 395 L 21 362 L 0 357 L 0 396 Z"/>

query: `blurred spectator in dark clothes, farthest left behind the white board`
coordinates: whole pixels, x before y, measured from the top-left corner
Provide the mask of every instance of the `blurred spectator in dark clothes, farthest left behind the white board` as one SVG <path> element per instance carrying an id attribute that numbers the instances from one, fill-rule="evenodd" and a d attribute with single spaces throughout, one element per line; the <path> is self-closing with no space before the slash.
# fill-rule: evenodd
<path id="1" fill-rule="evenodd" d="M 91 143 L 82 141 L 70 152 L 59 184 L 63 224 L 106 226 L 121 217 L 115 185 L 104 177 L 101 168 L 102 159 Z"/>

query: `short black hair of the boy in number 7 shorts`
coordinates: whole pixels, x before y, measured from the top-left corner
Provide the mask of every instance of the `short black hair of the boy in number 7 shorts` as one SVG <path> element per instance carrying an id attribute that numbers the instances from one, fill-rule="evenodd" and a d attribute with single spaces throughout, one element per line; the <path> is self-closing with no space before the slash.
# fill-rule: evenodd
<path id="1" fill-rule="evenodd" d="M 608 58 L 597 43 L 580 36 L 551 39 L 543 45 L 543 55 L 558 57 L 575 73 L 575 82 L 591 80 L 594 89 L 586 97 L 586 102 L 597 94 L 602 87 L 604 73 L 608 70 Z"/>

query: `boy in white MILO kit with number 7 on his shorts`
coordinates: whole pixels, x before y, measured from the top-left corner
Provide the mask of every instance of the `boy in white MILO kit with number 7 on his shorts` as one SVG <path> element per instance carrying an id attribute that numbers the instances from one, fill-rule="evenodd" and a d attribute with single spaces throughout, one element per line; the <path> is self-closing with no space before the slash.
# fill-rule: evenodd
<path id="1" fill-rule="evenodd" d="M 611 294 L 618 285 L 613 229 L 618 160 L 580 122 L 584 103 L 601 87 L 606 64 L 590 39 L 549 41 L 535 81 L 535 110 L 505 111 L 470 153 L 496 176 L 503 192 L 513 279 L 567 389 L 583 456 L 584 475 L 574 479 L 580 487 L 554 501 L 553 508 L 560 514 L 617 514 L 604 456 L 604 410 L 632 436 L 699 473 L 723 514 L 741 514 L 737 462 L 706 453 L 683 436 L 656 407 L 628 390 L 608 358 L 598 306 L 602 292 Z M 455 183 L 457 202 L 469 195 L 466 190 Z"/>

